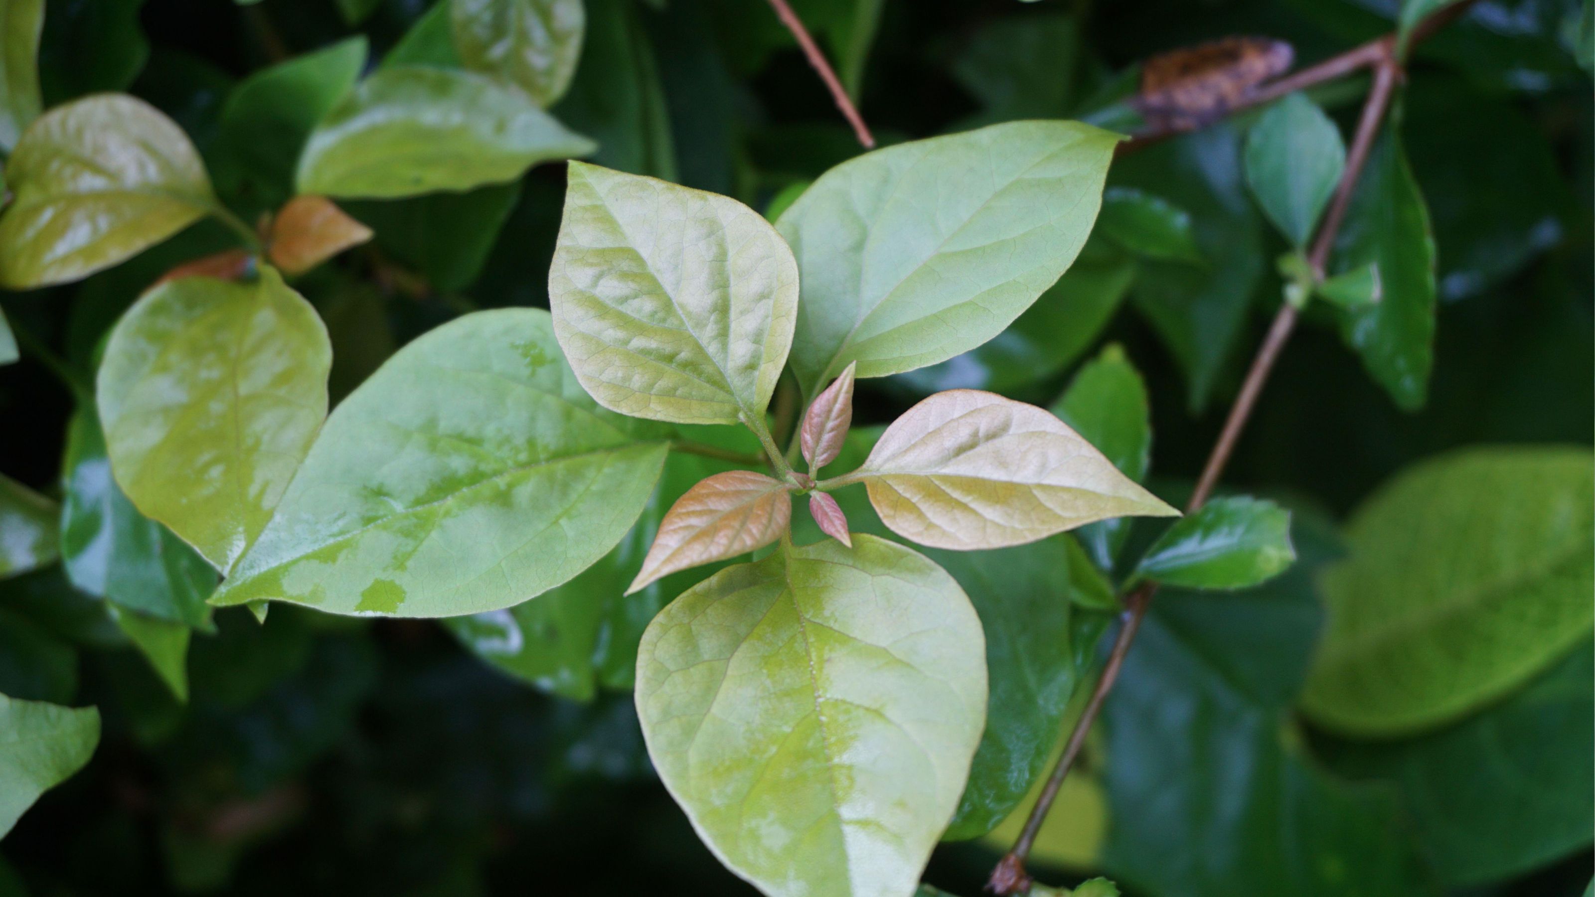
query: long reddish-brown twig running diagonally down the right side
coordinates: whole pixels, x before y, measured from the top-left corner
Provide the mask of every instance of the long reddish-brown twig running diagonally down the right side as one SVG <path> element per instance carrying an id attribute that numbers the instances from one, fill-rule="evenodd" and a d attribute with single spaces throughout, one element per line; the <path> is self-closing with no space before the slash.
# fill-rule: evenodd
<path id="1" fill-rule="evenodd" d="M 1472 0 L 1463 0 L 1463 3 L 1448 8 L 1447 21 L 1459 16 L 1471 2 Z M 1420 27 L 1413 32 L 1413 40 L 1420 40 L 1420 35 L 1428 37 L 1434 32 L 1432 27 L 1424 29 L 1428 24 L 1428 21 L 1420 24 Z M 1388 35 L 1359 46 L 1349 54 L 1335 57 L 1330 61 L 1333 65 L 1325 62 L 1298 73 L 1298 77 L 1276 81 L 1276 85 L 1290 85 L 1289 89 L 1300 89 L 1308 83 L 1300 75 L 1306 75 L 1308 72 L 1316 70 L 1316 80 L 1311 83 L 1319 83 L 1329 77 L 1341 77 L 1356 72 L 1364 65 L 1373 65 L 1373 86 L 1369 89 L 1369 97 L 1362 105 L 1362 117 L 1357 121 L 1357 131 L 1353 137 L 1351 150 L 1346 155 L 1346 169 L 1341 174 L 1329 212 L 1324 215 L 1324 222 L 1319 227 L 1317 236 L 1313 241 L 1313 249 L 1308 255 L 1308 262 L 1319 276 L 1322 276 L 1324 267 L 1329 262 L 1329 254 L 1335 246 L 1335 236 L 1340 233 L 1340 225 L 1345 222 L 1351 196 L 1356 190 L 1357 180 L 1362 177 L 1362 168 L 1367 163 L 1369 150 L 1373 145 L 1380 124 L 1384 121 L 1396 85 L 1400 80 L 1400 64 L 1394 57 L 1394 35 Z M 1333 72 L 1333 75 L 1322 75 L 1322 72 Z M 1281 91 L 1281 94 L 1289 93 L 1289 89 Z M 1196 490 L 1191 493 L 1190 503 L 1185 508 L 1187 512 L 1199 509 L 1219 484 L 1219 477 L 1223 474 L 1223 468 L 1230 461 L 1230 455 L 1241 437 L 1241 431 L 1246 428 L 1246 421 L 1250 418 L 1257 397 L 1262 394 L 1263 385 L 1268 381 L 1268 375 L 1273 372 L 1274 362 L 1279 359 L 1279 353 L 1290 338 L 1295 322 L 1297 310 L 1290 305 L 1281 305 L 1279 313 L 1268 327 L 1268 335 L 1263 338 L 1263 343 L 1257 350 L 1257 356 L 1252 359 L 1250 369 L 1246 372 L 1246 380 L 1243 381 L 1241 391 L 1235 399 L 1235 405 L 1230 409 L 1230 415 L 1223 423 L 1219 441 L 1207 455 L 1207 463 L 1203 468 L 1201 479 L 1196 482 Z M 1107 699 L 1109 691 L 1113 688 L 1113 682 L 1118 678 L 1124 656 L 1129 653 L 1129 646 L 1134 642 L 1136 634 L 1140 630 L 1140 622 L 1145 619 L 1147 608 L 1152 605 L 1152 597 L 1156 591 L 1156 583 L 1145 583 L 1124 597 L 1123 624 L 1120 626 L 1113 646 L 1109 651 L 1109 659 L 1102 667 L 1102 675 L 1097 678 L 1096 688 L 1091 691 L 1091 699 L 1086 702 L 1085 710 L 1075 721 L 1075 728 L 1069 734 L 1069 742 L 1064 745 L 1064 753 L 1057 758 L 1057 765 L 1053 766 L 1053 773 L 1048 776 L 1046 785 L 1042 788 L 1035 806 L 1030 809 L 1030 816 L 1026 820 L 1024 828 L 1019 832 L 1019 838 L 1014 841 L 1013 849 L 1003 856 L 1003 859 L 997 863 L 997 868 L 992 871 L 992 878 L 986 886 L 989 891 L 995 894 L 1021 894 L 1030 887 L 1030 878 L 1024 870 L 1024 860 L 1030 854 L 1030 846 L 1035 843 L 1035 836 L 1042 830 L 1046 814 L 1051 809 L 1053 801 L 1057 798 L 1057 792 L 1062 787 L 1064 779 L 1069 776 L 1069 769 L 1080 755 L 1080 749 L 1085 744 L 1086 733 L 1091 729 L 1091 723 L 1096 721 L 1097 715 L 1102 712 L 1102 702 Z"/>

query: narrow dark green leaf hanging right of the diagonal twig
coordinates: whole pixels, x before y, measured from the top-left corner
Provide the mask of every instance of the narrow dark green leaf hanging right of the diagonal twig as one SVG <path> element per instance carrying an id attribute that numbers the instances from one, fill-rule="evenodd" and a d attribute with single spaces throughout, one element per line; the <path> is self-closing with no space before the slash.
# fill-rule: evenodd
<path id="1" fill-rule="evenodd" d="M 1341 332 L 1404 410 L 1421 409 L 1434 366 L 1434 238 L 1400 140 L 1386 129 L 1364 164 L 1333 270 L 1380 270 L 1381 297 L 1343 316 Z"/>

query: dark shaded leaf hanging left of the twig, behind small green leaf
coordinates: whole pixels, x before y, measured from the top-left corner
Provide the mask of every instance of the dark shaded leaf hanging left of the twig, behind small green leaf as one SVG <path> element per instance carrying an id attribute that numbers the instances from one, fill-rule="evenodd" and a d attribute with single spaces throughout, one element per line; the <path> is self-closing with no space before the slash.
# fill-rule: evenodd
<path id="1" fill-rule="evenodd" d="M 1139 187 L 1191 215 L 1206 265 L 1140 263 L 1131 297 L 1185 370 L 1191 410 L 1207 405 L 1246 322 L 1265 259 L 1241 176 L 1241 136 L 1219 123 L 1124 156 L 1113 185 Z"/>

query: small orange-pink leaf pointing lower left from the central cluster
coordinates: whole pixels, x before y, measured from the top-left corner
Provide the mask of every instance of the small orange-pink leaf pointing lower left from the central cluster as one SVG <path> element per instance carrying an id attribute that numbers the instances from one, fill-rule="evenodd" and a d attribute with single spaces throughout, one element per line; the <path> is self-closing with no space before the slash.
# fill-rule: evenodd
<path id="1" fill-rule="evenodd" d="M 625 594 L 678 570 L 767 546 L 786 531 L 791 519 L 791 485 L 753 471 L 715 474 L 665 512 L 643 568 Z"/>

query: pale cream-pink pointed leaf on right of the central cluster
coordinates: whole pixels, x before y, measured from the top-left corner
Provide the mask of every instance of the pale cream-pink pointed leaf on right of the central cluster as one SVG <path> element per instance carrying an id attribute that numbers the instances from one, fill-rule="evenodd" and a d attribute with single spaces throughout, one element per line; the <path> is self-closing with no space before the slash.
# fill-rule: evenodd
<path id="1" fill-rule="evenodd" d="M 1109 517 L 1179 516 L 1064 421 L 976 389 L 914 405 L 863 468 L 839 479 L 863 482 L 892 531 L 959 551 L 1029 543 Z"/>

